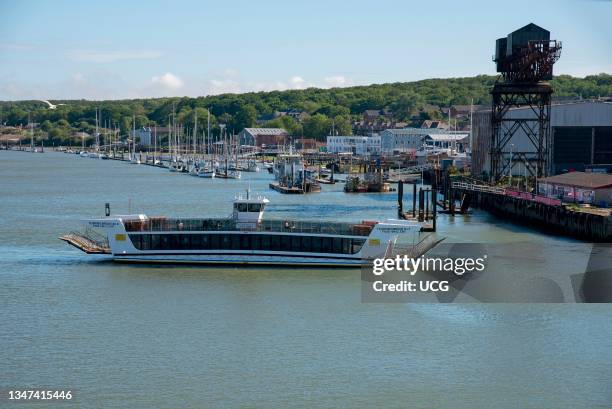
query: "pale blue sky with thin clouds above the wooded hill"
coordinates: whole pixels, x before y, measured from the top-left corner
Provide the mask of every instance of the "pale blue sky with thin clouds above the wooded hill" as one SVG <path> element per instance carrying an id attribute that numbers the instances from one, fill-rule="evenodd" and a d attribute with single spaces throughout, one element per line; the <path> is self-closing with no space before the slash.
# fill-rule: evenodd
<path id="1" fill-rule="evenodd" d="M 0 0 L 0 100 L 124 99 L 495 74 L 533 22 L 555 74 L 612 73 L 612 1 Z"/>

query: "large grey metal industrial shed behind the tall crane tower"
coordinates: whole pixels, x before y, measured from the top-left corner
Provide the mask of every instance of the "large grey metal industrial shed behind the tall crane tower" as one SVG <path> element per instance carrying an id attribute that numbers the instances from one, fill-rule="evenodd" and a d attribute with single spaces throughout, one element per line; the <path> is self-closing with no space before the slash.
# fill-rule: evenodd
<path id="1" fill-rule="evenodd" d="M 530 108 L 517 108 L 510 110 L 507 115 L 510 118 L 528 118 L 534 113 Z M 611 102 L 577 101 L 553 105 L 550 124 L 550 174 L 584 170 L 596 165 L 612 165 Z M 474 113 L 473 127 L 472 172 L 480 176 L 490 171 L 491 111 Z M 528 137 L 521 130 L 516 132 L 509 143 L 516 152 L 533 150 Z M 513 174 L 522 174 L 523 169 L 524 164 L 513 162 Z"/>

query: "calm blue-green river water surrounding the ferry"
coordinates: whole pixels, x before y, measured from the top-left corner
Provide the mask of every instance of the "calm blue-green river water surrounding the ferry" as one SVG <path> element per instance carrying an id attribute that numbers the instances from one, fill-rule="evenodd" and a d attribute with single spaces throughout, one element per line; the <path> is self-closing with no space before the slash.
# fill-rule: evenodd
<path id="1" fill-rule="evenodd" d="M 359 271 L 119 265 L 57 239 L 106 202 L 226 216 L 249 186 L 272 217 L 395 216 L 394 193 L 281 195 L 270 179 L 0 151 L 0 388 L 69 388 L 78 407 L 612 406 L 606 304 L 363 303 Z M 550 260 L 578 245 L 479 211 L 438 225 Z"/>

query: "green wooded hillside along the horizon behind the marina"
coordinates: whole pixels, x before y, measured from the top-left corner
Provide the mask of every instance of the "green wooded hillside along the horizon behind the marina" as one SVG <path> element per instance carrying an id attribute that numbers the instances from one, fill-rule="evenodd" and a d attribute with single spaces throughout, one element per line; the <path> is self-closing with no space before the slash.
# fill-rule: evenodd
<path id="1" fill-rule="evenodd" d="M 57 109 L 50 110 L 40 102 L 0 102 L 1 121 L 9 126 L 25 125 L 28 112 L 33 122 L 40 124 L 37 139 L 46 139 L 46 145 L 80 144 L 75 132 L 93 133 L 95 110 L 102 115 L 101 126 L 111 124 L 119 127 L 123 134 L 132 127 L 132 116 L 136 126 L 166 126 L 169 115 L 176 111 L 177 120 L 192 128 L 194 110 L 200 124 L 206 122 L 210 109 L 212 128 L 218 132 L 218 124 L 227 124 L 230 132 L 239 132 L 244 127 L 258 126 L 260 115 L 276 111 L 295 109 L 307 115 L 300 121 L 290 116 L 275 118 L 264 125 L 283 127 L 296 137 L 324 139 L 332 126 L 339 134 L 349 134 L 351 124 L 361 119 L 366 109 L 388 109 L 396 121 L 411 122 L 415 118 L 441 118 L 437 107 L 467 105 L 490 102 L 489 90 L 496 77 L 479 75 L 469 78 L 429 79 L 416 82 L 375 84 L 347 88 L 251 92 L 245 94 L 223 94 L 198 98 L 158 98 L 119 101 L 53 101 Z M 599 74 L 585 78 L 567 75 L 553 81 L 556 97 L 594 98 L 612 96 L 612 75 Z"/>

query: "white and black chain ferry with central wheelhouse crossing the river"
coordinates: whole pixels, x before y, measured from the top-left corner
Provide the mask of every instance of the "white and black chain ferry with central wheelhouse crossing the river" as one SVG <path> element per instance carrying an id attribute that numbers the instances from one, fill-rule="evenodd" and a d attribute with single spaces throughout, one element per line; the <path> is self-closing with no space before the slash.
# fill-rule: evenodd
<path id="1" fill-rule="evenodd" d="M 270 220 L 264 218 L 268 204 L 247 192 L 234 199 L 227 218 L 109 215 L 85 220 L 85 232 L 60 239 L 86 253 L 135 263 L 358 267 L 378 257 L 423 252 L 422 226 L 414 220 Z"/>

